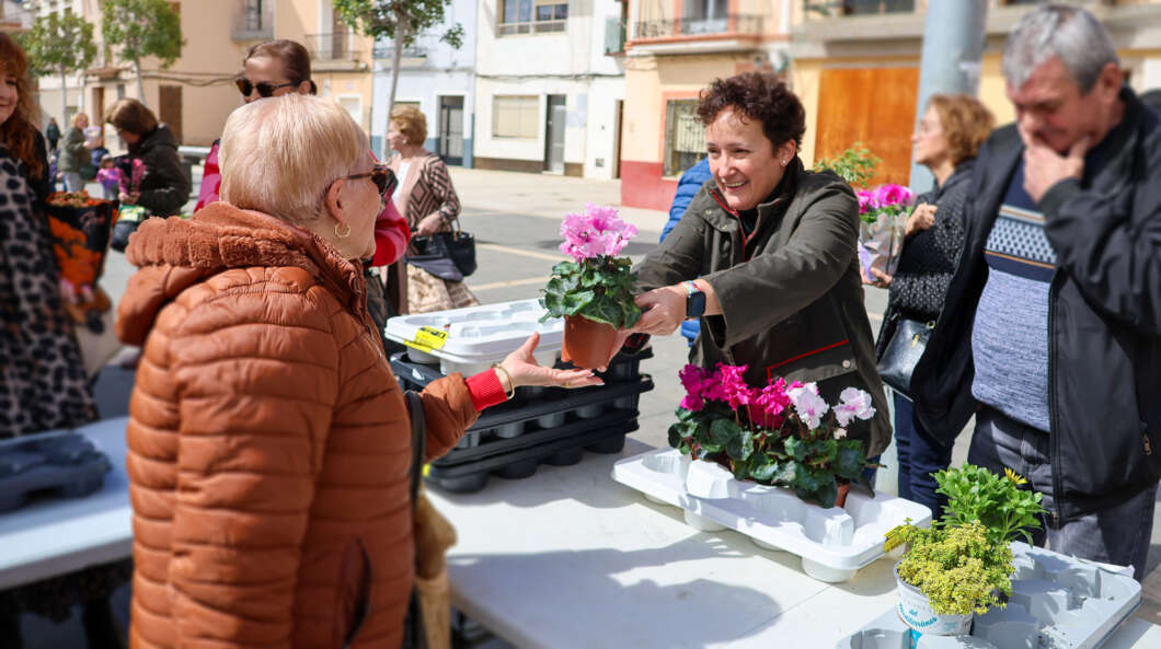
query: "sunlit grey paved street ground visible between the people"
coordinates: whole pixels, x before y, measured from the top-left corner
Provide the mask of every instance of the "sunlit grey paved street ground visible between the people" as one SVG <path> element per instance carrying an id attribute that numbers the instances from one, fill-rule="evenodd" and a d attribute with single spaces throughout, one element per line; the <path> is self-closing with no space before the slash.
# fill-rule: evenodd
<path id="1" fill-rule="evenodd" d="M 557 251 L 560 222 L 569 211 L 580 210 L 585 202 L 618 204 L 620 181 L 593 181 L 576 178 L 509 172 L 452 168 L 452 178 L 463 203 L 461 223 L 477 239 L 479 269 L 468 286 L 482 302 L 495 303 L 536 297 L 554 264 L 563 259 Z M 199 179 L 195 170 L 195 187 Z M 190 203 L 187 210 L 192 209 Z M 657 245 L 666 214 L 626 209 L 622 216 L 640 230 L 626 252 L 636 261 Z M 111 253 L 102 284 L 116 301 L 124 291 L 131 268 L 124 255 Z M 877 330 L 887 302 L 886 291 L 867 289 L 866 308 L 872 329 Z M 640 430 L 630 437 L 651 446 L 666 445 L 666 430 L 673 409 L 683 396 L 677 372 L 686 362 L 685 339 L 672 336 L 654 340 L 654 358 L 643 363 L 656 388 L 640 402 Z M 953 462 L 967 455 L 969 432 L 960 435 Z M 894 450 L 882 462 L 894 467 Z M 879 488 L 894 491 L 893 470 L 880 471 Z M 1155 524 L 1156 526 L 1156 524 Z M 1161 536 L 1154 534 L 1156 539 Z M 1161 547 L 1153 546 L 1151 568 L 1155 567 Z M 1161 571 L 1146 581 L 1147 600 L 1138 614 L 1151 622 L 1161 622 Z M 50 647 L 50 644 L 44 644 Z"/>

